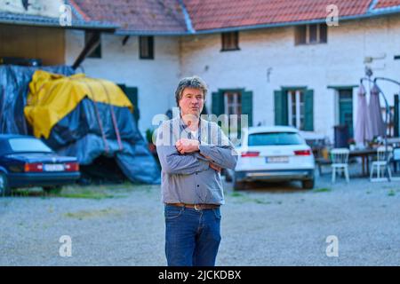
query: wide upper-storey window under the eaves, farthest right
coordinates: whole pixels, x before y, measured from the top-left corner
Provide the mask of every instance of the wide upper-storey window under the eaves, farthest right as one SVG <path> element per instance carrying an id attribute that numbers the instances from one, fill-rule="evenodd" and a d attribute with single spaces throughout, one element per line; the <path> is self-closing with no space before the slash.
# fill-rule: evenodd
<path id="1" fill-rule="evenodd" d="M 328 29 L 326 28 L 326 24 L 314 24 L 296 27 L 295 42 L 296 45 L 327 43 Z"/>

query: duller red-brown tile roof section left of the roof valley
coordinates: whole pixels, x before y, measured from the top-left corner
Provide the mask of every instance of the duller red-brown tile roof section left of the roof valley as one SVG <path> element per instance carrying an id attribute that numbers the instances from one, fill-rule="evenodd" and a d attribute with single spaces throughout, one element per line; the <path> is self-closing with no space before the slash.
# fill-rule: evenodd
<path id="1" fill-rule="evenodd" d="M 185 18 L 177 0 L 70 0 L 84 18 L 106 20 L 121 31 L 184 33 Z"/>

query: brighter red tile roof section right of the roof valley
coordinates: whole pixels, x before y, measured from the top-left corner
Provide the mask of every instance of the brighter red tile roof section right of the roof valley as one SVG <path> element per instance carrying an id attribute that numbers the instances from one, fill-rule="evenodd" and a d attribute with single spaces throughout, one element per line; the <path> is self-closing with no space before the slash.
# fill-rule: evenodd
<path id="1" fill-rule="evenodd" d="M 326 6 L 336 4 L 339 15 L 368 11 L 372 0 L 184 0 L 193 28 L 206 30 L 325 19 Z"/>

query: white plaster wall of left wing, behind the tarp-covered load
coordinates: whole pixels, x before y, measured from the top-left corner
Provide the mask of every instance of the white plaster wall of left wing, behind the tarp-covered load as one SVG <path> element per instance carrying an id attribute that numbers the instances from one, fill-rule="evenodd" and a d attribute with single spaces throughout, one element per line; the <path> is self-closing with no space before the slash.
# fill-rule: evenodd
<path id="1" fill-rule="evenodd" d="M 155 59 L 139 58 L 139 37 L 101 36 L 101 59 L 87 58 L 78 68 L 88 76 L 124 83 L 138 88 L 139 128 L 151 127 L 156 114 L 175 106 L 174 91 L 179 80 L 179 38 L 156 36 Z M 83 31 L 66 31 L 66 64 L 72 65 L 84 48 Z"/>

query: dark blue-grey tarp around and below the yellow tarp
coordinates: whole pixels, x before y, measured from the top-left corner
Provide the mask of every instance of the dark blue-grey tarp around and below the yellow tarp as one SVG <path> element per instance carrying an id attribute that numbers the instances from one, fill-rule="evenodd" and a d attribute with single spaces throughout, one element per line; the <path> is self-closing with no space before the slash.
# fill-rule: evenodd
<path id="1" fill-rule="evenodd" d="M 28 97 L 28 83 L 37 69 L 62 75 L 73 75 L 71 67 L 0 66 L 0 133 L 31 135 L 23 114 Z M 132 182 L 160 183 L 156 160 L 148 151 L 137 124 L 127 107 L 114 107 L 122 148 L 109 114 L 109 105 L 99 104 L 100 120 L 106 139 L 102 138 L 92 100 L 83 99 L 60 120 L 44 142 L 59 154 L 76 156 L 82 165 L 96 158 L 115 158 L 116 164 Z"/>

